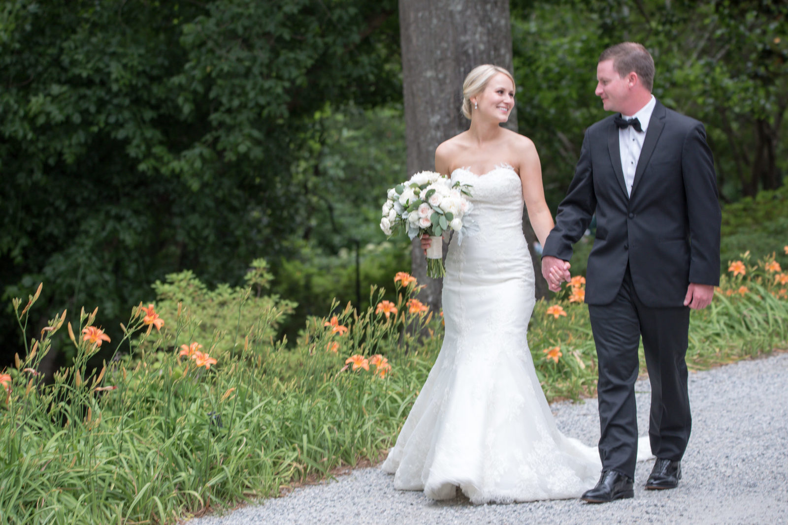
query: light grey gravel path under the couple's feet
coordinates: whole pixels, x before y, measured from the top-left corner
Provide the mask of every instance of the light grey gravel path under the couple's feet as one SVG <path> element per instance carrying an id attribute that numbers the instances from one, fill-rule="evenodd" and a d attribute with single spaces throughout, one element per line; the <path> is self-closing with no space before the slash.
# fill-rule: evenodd
<path id="1" fill-rule="evenodd" d="M 637 465 L 635 497 L 604 505 L 579 500 L 470 505 L 394 490 L 392 476 L 364 468 L 336 481 L 296 489 L 225 516 L 188 525 L 249 523 L 788 523 L 788 353 L 689 376 L 693 433 L 678 489 L 643 485 L 653 461 Z M 637 383 L 641 434 L 649 383 Z M 564 434 L 595 443 L 597 401 L 552 405 Z"/>

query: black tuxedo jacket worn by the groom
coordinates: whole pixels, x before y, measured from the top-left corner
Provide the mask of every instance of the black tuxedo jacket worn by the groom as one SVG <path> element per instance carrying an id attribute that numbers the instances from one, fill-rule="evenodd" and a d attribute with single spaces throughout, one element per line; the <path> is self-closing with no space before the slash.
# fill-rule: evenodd
<path id="1" fill-rule="evenodd" d="M 719 284 L 721 214 L 703 124 L 656 101 L 628 197 L 613 118 L 585 131 L 543 255 L 569 261 L 597 213 L 585 302 L 613 301 L 629 263 L 645 305 L 682 306 L 689 283 Z"/>

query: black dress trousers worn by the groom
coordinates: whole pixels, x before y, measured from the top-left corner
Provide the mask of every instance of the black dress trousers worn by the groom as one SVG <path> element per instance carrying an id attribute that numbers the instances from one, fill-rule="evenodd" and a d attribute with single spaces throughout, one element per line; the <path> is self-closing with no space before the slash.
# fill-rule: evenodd
<path id="1" fill-rule="evenodd" d="M 597 395 L 602 470 L 619 471 L 634 478 L 637 457 L 634 383 L 641 336 L 651 382 L 652 453 L 662 459 L 682 459 L 692 425 L 684 360 L 689 308 L 644 305 L 637 298 L 627 265 L 615 299 L 608 305 L 589 305 L 589 316 L 599 363 Z"/>

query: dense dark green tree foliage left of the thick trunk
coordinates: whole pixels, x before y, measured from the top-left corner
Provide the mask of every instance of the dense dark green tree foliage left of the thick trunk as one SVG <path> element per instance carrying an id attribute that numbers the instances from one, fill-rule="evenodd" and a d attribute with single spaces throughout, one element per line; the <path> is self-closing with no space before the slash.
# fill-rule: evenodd
<path id="1" fill-rule="evenodd" d="M 286 254 L 314 220 L 293 165 L 315 113 L 401 96 L 394 13 L 388 0 L 5 2 L 2 297 L 46 280 L 46 310 L 99 305 L 119 340 L 152 280 L 189 268 L 238 284 L 244 261 Z M 4 349 L 12 334 L 4 319 Z"/>

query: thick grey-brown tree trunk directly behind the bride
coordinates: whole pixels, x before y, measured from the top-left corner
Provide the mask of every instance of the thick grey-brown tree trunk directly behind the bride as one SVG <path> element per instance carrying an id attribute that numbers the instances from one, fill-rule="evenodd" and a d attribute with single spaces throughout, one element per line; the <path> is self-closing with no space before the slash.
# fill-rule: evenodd
<path id="1" fill-rule="evenodd" d="M 468 72 L 481 64 L 511 71 L 509 2 L 400 0 L 400 38 L 407 176 L 411 176 L 433 168 L 438 144 L 468 128 L 469 121 L 460 112 Z M 515 109 L 506 126 L 517 131 Z M 526 227 L 530 230 L 530 224 Z M 427 278 L 418 239 L 411 245 L 411 265 L 418 282 L 426 284 L 419 299 L 440 309 L 442 279 Z"/>

